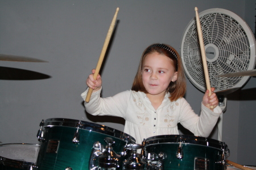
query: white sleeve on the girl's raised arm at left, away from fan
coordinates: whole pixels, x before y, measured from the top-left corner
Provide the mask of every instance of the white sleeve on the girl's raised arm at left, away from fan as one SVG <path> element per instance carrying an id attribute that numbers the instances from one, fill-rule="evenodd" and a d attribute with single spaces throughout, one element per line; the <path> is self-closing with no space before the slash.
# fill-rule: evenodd
<path id="1" fill-rule="evenodd" d="M 81 94 L 85 100 L 89 88 Z M 113 97 L 100 97 L 101 90 L 92 93 L 90 101 L 84 103 L 86 112 L 96 116 L 118 116 L 125 118 L 129 91 L 121 92 Z"/>

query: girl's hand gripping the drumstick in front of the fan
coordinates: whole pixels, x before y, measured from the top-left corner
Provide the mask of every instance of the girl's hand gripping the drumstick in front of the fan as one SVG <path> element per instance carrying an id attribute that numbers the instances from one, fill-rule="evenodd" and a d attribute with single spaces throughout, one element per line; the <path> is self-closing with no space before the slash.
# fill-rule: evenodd
<path id="1" fill-rule="evenodd" d="M 212 95 L 208 96 L 209 90 L 205 92 L 203 97 L 203 105 L 213 111 L 213 109 L 216 108 L 218 105 L 218 97 L 216 93 L 213 92 L 215 90 L 214 87 L 211 87 L 210 90 L 212 90 Z M 213 108 L 210 108 L 210 106 L 213 106 Z"/>

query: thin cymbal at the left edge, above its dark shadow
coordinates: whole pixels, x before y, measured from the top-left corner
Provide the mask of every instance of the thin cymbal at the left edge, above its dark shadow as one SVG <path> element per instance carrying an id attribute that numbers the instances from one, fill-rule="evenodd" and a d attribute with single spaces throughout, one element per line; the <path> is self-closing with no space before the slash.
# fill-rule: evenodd
<path id="1" fill-rule="evenodd" d="M 13 55 L 7 55 L 7 54 L 0 54 L 0 61 L 48 62 L 48 61 L 43 61 L 42 59 L 36 59 L 36 58 L 24 57 L 24 56 L 13 56 Z"/>

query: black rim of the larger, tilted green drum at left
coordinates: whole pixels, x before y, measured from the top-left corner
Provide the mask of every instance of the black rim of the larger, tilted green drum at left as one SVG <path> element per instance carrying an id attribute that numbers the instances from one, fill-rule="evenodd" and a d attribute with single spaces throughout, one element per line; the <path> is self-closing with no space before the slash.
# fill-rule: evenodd
<path id="1" fill-rule="evenodd" d="M 48 118 L 44 120 L 44 128 L 46 127 L 53 127 L 53 126 L 65 126 L 70 128 L 77 128 L 77 125 L 80 123 L 79 129 L 83 130 L 91 130 L 96 131 L 98 133 L 110 135 L 115 138 L 125 139 L 128 140 L 130 143 L 136 143 L 136 140 L 131 135 L 124 133 L 123 131 L 110 128 L 105 125 L 95 124 L 93 122 L 87 122 L 87 121 L 81 121 L 81 120 L 75 120 L 71 118 Z"/>

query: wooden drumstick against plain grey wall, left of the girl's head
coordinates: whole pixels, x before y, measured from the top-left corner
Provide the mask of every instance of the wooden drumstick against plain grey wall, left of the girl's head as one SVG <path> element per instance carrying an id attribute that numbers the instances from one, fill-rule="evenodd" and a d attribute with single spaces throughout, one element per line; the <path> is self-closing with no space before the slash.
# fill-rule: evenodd
<path id="1" fill-rule="evenodd" d="M 109 45 L 109 41 L 110 41 L 110 38 L 112 36 L 112 32 L 113 32 L 113 29 L 114 29 L 114 25 L 115 25 L 115 20 L 117 19 L 117 13 L 119 11 L 119 8 L 117 8 L 117 10 L 115 11 L 115 15 L 114 15 L 114 18 L 112 20 L 112 23 L 110 24 L 110 27 L 109 27 L 109 31 L 108 31 L 108 34 L 106 36 L 106 40 L 104 42 L 104 45 L 103 45 L 103 48 L 101 50 L 101 55 L 100 55 L 100 58 L 98 59 L 98 63 L 97 63 L 97 66 L 96 66 L 96 69 L 95 69 L 95 73 L 93 74 L 93 78 L 96 80 L 97 76 L 98 76 L 98 73 L 100 72 L 100 69 L 101 69 L 101 64 L 102 64 L 102 61 L 104 59 L 104 56 L 105 56 L 105 53 L 106 53 L 106 50 L 108 48 L 108 45 Z M 92 92 L 93 92 L 93 89 L 92 88 L 89 88 L 89 91 L 88 91 L 88 94 L 86 96 L 86 103 L 88 103 L 90 101 L 90 96 L 92 95 Z"/>

